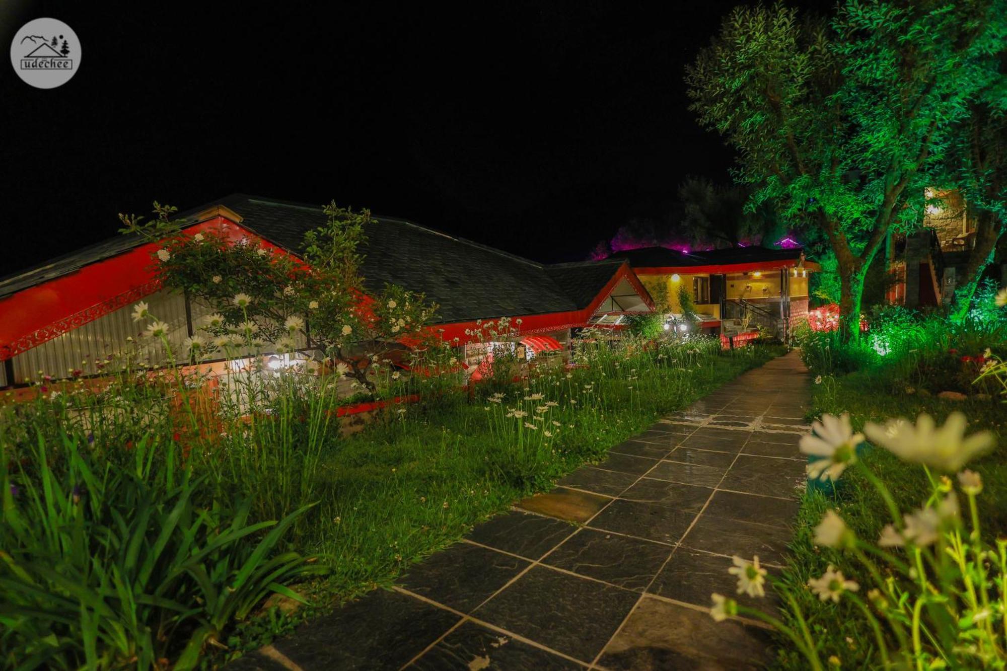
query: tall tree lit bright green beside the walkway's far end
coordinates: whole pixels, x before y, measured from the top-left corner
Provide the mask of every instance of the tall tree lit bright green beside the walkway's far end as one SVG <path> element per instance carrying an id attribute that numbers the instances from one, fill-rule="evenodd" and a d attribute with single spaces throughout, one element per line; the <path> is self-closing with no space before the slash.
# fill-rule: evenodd
<path id="1" fill-rule="evenodd" d="M 918 225 L 952 131 L 996 77 L 1007 0 L 844 0 L 832 19 L 737 7 L 687 69 L 691 109 L 738 151 L 737 178 L 836 255 L 859 329 L 864 278 Z"/>

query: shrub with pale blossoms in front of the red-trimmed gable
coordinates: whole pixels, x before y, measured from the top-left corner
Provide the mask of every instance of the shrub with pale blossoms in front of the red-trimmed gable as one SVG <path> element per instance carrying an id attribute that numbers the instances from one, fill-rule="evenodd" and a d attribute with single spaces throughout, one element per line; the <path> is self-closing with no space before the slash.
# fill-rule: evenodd
<path id="1" fill-rule="evenodd" d="M 422 294 L 395 285 L 365 291 L 357 250 L 372 219 L 367 210 L 327 206 L 325 226 L 304 236 L 301 259 L 250 239 L 232 242 L 224 231 L 187 235 L 171 223 L 174 208 L 155 203 L 155 212 L 147 224 L 120 215 L 123 232 L 160 244 L 157 278 L 215 310 L 200 324 L 206 334 L 188 339 L 180 358 L 289 353 L 310 339 L 340 375 L 374 391 L 376 365 L 391 361 L 399 343 L 422 346 L 435 338 L 427 323 L 436 306 Z M 134 318 L 145 316 L 143 303 L 138 309 Z M 155 337 L 166 328 L 148 325 Z"/>

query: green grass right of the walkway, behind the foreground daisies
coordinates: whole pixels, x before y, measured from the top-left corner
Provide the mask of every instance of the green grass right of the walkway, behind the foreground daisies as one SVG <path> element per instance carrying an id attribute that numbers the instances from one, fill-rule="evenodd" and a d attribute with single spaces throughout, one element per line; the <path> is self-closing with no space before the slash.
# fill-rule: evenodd
<path id="1" fill-rule="evenodd" d="M 890 417 L 914 420 L 922 412 L 943 424 L 950 413 L 965 412 L 970 433 L 985 428 L 998 435 L 997 447 L 969 467 L 983 477 L 984 489 L 979 505 L 984 530 L 991 537 L 1007 533 L 1007 406 L 996 400 L 945 401 L 918 393 L 899 393 L 894 391 L 897 388 L 901 387 L 880 372 L 827 376 L 814 387 L 809 415 L 849 412 L 854 429 L 860 430 L 867 421 L 882 422 Z M 926 477 L 917 464 L 901 461 L 881 448 L 868 447 L 861 452 L 861 457 L 887 485 L 900 510 L 918 508 L 929 495 Z M 830 563 L 861 584 L 870 583 L 869 576 L 848 555 L 813 544 L 813 529 L 830 507 L 837 508 L 861 538 L 876 539 L 882 527 L 891 521 L 876 490 L 857 469 L 848 469 L 834 498 L 816 491 L 804 496 L 790 545 L 792 558 L 783 579 L 809 619 L 815 640 L 821 646 L 821 659 L 835 655 L 842 668 L 878 668 L 873 635 L 857 609 L 849 600 L 841 600 L 838 605 L 823 602 L 806 586 L 809 577 L 821 575 Z M 780 639 L 775 667 L 805 669 L 807 662 L 789 642 Z"/>

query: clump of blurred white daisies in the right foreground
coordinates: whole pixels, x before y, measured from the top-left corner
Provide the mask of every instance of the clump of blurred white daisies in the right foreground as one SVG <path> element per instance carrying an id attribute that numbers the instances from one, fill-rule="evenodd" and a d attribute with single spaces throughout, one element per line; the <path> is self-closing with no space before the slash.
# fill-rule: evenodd
<path id="1" fill-rule="evenodd" d="M 831 548 L 844 560 L 857 562 L 870 584 L 847 578 L 829 565 L 807 581 L 823 601 L 851 603 L 868 623 L 883 668 L 1003 668 L 1007 664 L 1007 540 L 988 543 L 982 536 L 977 497 L 980 476 L 963 469 L 992 448 L 988 431 L 966 435 L 966 418 L 953 413 L 937 426 L 928 415 L 916 422 L 868 423 L 855 433 L 848 415 L 824 415 L 805 436 L 801 450 L 813 457 L 810 478 L 837 480 L 848 467 L 858 468 L 885 502 L 891 522 L 877 539 L 859 538 L 835 510 L 815 527 L 815 544 Z M 863 460 L 857 446 L 868 437 L 903 461 L 918 463 L 930 483 L 922 505 L 903 513 L 888 487 Z M 958 488 L 949 476 L 957 473 Z M 966 505 L 963 510 L 961 498 Z M 762 596 L 766 572 L 752 561 L 735 557 L 731 573 L 738 593 Z M 747 615 L 763 620 L 787 636 L 811 668 L 824 668 L 819 648 L 798 599 L 780 581 L 770 579 L 783 596 L 796 626 L 789 627 L 758 609 L 713 595 L 715 620 Z M 838 666 L 838 658 L 830 665 Z"/>

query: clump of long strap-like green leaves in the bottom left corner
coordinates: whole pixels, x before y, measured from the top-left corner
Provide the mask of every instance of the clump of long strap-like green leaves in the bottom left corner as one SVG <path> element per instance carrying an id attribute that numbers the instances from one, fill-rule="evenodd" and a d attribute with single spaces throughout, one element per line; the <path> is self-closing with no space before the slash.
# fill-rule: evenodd
<path id="1" fill-rule="evenodd" d="M 288 592 L 282 582 L 325 570 L 273 552 L 306 509 L 248 524 L 248 502 L 199 507 L 205 479 L 156 436 L 132 453 L 39 436 L 14 469 L 9 457 L 0 442 L 0 658 L 11 668 L 192 668 L 234 620 Z"/>

